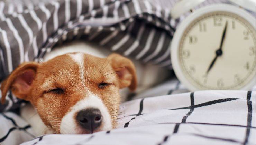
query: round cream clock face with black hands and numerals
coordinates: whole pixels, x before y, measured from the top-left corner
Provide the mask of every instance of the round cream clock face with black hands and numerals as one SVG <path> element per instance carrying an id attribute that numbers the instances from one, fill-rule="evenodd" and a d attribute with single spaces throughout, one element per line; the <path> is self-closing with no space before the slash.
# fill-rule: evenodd
<path id="1" fill-rule="evenodd" d="M 255 77 L 255 28 L 230 12 L 210 12 L 191 22 L 178 60 L 199 89 L 241 89 Z"/>

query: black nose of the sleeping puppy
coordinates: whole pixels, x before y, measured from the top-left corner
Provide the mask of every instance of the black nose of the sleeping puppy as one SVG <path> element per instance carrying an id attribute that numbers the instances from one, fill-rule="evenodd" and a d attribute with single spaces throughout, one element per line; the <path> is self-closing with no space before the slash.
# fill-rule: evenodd
<path id="1" fill-rule="evenodd" d="M 79 111 L 76 119 L 83 128 L 93 133 L 93 131 L 100 126 L 102 116 L 99 109 L 89 108 Z"/>

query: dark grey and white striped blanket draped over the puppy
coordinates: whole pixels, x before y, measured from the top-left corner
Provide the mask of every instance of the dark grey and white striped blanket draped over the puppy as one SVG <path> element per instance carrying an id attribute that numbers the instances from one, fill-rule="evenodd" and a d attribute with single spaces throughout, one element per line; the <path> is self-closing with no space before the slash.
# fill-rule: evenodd
<path id="1" fill-rule="evenodd" d="M 55 45 L 82 39 L 144 63 L 171 69 L 170 44 L 180 19 L 168 0 L 0 1 L 0 82 L 25 61 L 43 61 Z M 199 7 L 227 2 L 207 0 Z M 198 7 L 198 8 L 199 8 Z M 19 107 L 9 92 L 0 112 Z"/>

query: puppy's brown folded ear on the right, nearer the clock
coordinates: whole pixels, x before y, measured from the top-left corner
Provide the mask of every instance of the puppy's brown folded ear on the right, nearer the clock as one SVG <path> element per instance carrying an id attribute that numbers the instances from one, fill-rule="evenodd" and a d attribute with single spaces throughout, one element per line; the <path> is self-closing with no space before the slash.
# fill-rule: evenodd
<path id="1" fill-rule="evenodd" d="M 115 53 L 110 54 L 109 59 L 119 77 L 119 88 L 129 87 L 131 91 L 134 91 L 137 88 L 137 76 L 132 61 Z"/>

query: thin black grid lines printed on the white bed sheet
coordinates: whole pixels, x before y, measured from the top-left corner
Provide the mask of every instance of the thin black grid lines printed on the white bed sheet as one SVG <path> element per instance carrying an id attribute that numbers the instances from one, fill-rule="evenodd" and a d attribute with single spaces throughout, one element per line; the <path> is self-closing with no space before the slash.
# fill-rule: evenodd
<path id="1" fill-rule="evenodd" d="M 255 129 L 255 126 L 252 126 L 252 101 L 251 101 L 251 97 L 252 97 L 252 92 L 248 91 L 247 92 L 247 106 L 245 106 L 248 109 L 247 112 L 247 125 L 238 125 L 238 124 L 218 124 L 218 123 L 200 123 L 200 122 L 187 122 L 187 118 L 189 116 L 193 115 L 194 112 L 194 108 L 198 108 L 198 107 L 203 107 L 203 106 L 208 106 L 208 105 L 213 105 L 213 104 L 217 104 L 217 103 L 226 103 L 226 102 L 230 102 L 230 101 L 235 101 L 235 100 L 240 100 L 240 98 L 226 98 L 226 99 L 217 99 L 217 100 L 213 100 L 213 101 L 208 101 L 208 102 L 204 102 L 201 104 L 197 104 L 195 105 L 195 98 L 194 98 L 194 92 L 190 93 L 190 106 L 189 107 L 182 107 L 182 108 L 174 108 L 174 109 L 166 109 L 166 110 L 180 110 L 180 109 L 190 109 L 188 113 L 186 113 L 183 117 L 181 122 L 163 122 L 163 123 L 159 123 L 159 124 L 175 124 L 175 127 L 172 131 L 172 133 L 170 132 L 170 135 L 166 135 L 163 136 L 163 140 L 162 142 L 158 143 L 159 145 L 165 144 L 167 141 L 170 141 L 172 139 L 172 137 L 174 137 L 174 134 L 179 134 L 179 127 L 182 124 L 200 124 L 200 125 L 206 125 L 206 126 L 234 126 L 234 127 L 242 127 L 242 128 L 246 128 L 246 132 L 245 132 L 245 137 L 244 137 L 244 141 L 240 142 L 237 141 L 236 139 L 230 139 L 230 138 L 225 138 L 225 137 L 215 137 L 215 136 L 209 136 L 209 135 L 203 135 L 203 134 L 198 134 L 198 133 L 188 133 L 188 135 L 190 136 L 197 136 L 197 137 L 202 137 L 202 138 L 207 138 L 207 139 L 214 139 L 214 140 L 219 140 L 219 141 L 225 141 L 225 142 L 233 142 L 233 143 L 239 143 L 241 145 L 246 145 L 248 143 L 248 138 L 250 136 L 250 130 L 251 129 Z M 144 107 L 144 99 L 141 99 L 139 102 L 139 111 L 137 114 L 132 114 L 135 117 L 133 117 L 129 122 L 125 123 L 125 128 L 129 126 L 129 123 L 134 120 L 137 116 L 143 115 L 143 107 Z M 144 113 L 146 114 L 146 113 Z M 4 141 L 4 139 L 6 139 L 8 137 L 8 135 L 15 129 L 20 129 L 23 130 L 24 132 L 26 132 L 26 129 L 29 128 L 30 126 L 27 125 L 25 127 L 17 127 L 17 123 L 15 122 L 15 120 L 9 116 L 6 116 L 5 114 L 1 113 L 2 116 L 4 116 L 6 119 L 10 120 L 12 122 L 12 124 L 15 126 L 13 128 L 10 128 L 10 130 L 8 131 L 7 135 L 2 137 L 0 139 L 0 141 Z M 128 115 L 128 116 L 132 116 L 132 115 Z M 111 131 L 106 131 L 106 134 L 111 134 Z M 82 143 L 88 142 L 90 141 L 92 138 L 94 137 L 94 135 L 90 136 L 89 138 L 86 138 Z M 34 138 L 34 139 L 38 139 L 38 141 L 36 141 L 34 144 L 37 144 L 38 142 L 43 140 L 43 136 Z M 33 140 L 34 140 L 33 139 Z"/>

